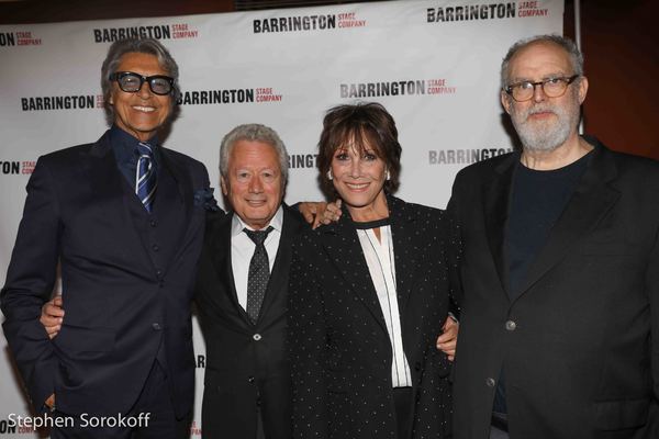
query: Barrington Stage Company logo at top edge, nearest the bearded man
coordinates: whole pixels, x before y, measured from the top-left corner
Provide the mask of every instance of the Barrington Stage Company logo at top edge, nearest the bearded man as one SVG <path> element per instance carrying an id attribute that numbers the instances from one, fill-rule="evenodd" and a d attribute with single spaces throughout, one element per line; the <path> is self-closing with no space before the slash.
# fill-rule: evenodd
<path id="1" fill-rule="evenodd" d="M 443 23 L 450 21 L 514 19 L 515 16 L 547 16 L 548 14 L 549 9 L 540 8 L 538 1 L 520 1 L 516 3 L 483 3 L 463 7 L 428 8 L 426 10 L 426 21 L 428 23 Z"/>

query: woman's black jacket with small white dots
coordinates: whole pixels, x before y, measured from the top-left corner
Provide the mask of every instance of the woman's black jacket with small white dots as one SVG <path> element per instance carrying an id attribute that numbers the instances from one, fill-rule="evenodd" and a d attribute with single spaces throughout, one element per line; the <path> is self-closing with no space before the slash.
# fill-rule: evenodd
<path id="1" fill-rule="evenodd" d="M 448 313 L 442 211 L 388 198 L 414 438 L 450 431 L 448 360 L 435 348 Z M 289 312 L 293 438 L 395 436 L 392 350 L 347 210 L 293 245 Z"/>

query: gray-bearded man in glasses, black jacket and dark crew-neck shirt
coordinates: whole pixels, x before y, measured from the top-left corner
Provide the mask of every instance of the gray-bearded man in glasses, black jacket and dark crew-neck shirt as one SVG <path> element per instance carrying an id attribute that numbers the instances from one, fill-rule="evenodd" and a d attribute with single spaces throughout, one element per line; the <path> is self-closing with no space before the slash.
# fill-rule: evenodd
<path id="1" fill-rule="evenodd" d="M 516 43 L 501 80 L 523 148 L 460 171 L 449 203 L 455 436 L 658 438 L 659 166 L 578 135 L 572 42 Z"/>

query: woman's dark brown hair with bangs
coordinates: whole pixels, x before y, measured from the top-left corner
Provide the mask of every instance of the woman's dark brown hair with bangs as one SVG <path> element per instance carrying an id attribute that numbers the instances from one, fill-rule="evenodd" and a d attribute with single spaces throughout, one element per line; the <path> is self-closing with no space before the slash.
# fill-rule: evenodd
<path id="1" fill-rule="evenodd" d="M 334 106 L 323 119 L 317 167 L 326 193 L 334 193 L 334 185 L 327 179 L 334 153 L 351 144 L 358 151 L 372 148 L 378 158 L 384 161 L 390 175 L 390 179 L 384 182 L 384 189 L 388 193 L 394 192 L 399 187 L 402 153 L 395 122 L 381 104 L 362 102 Z"/>

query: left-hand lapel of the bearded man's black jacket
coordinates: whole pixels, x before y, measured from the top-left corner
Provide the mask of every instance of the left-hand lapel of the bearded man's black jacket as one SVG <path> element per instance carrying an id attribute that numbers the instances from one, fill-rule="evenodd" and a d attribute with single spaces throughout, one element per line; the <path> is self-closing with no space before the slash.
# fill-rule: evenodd
<path id="1" fill-rule="evenodd" d="M 507 157 L 495 168 L 494 179 L 487 181 L 482 187 L 485 234 L 501 286 L 505 292 L 510 288 L 505 230 L 507 229 L 513 175 L 518 159 L 518 154 Z"/>

